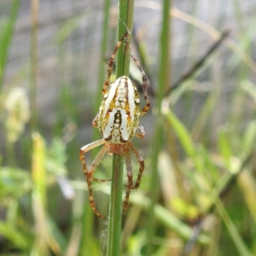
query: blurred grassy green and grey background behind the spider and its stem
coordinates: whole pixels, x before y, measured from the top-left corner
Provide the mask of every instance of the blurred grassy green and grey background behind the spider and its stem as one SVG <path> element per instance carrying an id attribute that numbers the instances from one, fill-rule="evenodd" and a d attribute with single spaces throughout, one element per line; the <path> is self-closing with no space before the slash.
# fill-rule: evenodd
<path id="1" fill-rule="evenodd" d="M 170 5 L 164 41 L 166 1 L 135 1 L 132 54 L 152 107 L 145 138 L 133 140 L 145 172 L 122 255 L 256 255 L 256 3 Z M 78 153 L 100 138 L 91 122 L 117 24 L 117 1 L 0 1 L 0 255 L 104 255 L 108 222 L 90 209 Z M 94 177 L 108 179 L 110 168 L 105 156 Z M 109 182 L 93 192 L 107 214 Z"/>

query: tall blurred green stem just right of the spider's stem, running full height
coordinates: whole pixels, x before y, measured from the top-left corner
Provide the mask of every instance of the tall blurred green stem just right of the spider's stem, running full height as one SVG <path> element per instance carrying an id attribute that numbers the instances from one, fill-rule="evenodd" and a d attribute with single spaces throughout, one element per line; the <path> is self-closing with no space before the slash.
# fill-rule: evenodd
<path id="1" fill-rule="evenodd" d="M 164 91 L 168 84 L 170 84 L 170 15 L 169 10 L 171 6 L 170 0 L 163 1 L 163 24 L 160 37 L 160 62 L 159 62 L 159 74 L 158 74 L 158 93 L 156 99 L 156 107 L 160 113 L 161 102 L 164 97 Z M 158 156 L 161 148 L 164 144 L 163 137 L 163 119 L 157 115 L 155 120 L 154 139 L 152 141 L 154 149 L 152 150 L 152 174 L 150 175 L 150 188 L 149 197 L 151 198 L 151 204 L 147 216 L 147 248 L 146 255 L 153 254 L 152 241 L 155 236 L 156 221 L 154 218 L 154 206 L 156 205 L 157 198 L 159 196 L 159 177 L 157 173 Z M 168 138 L 170 140 L 170 138 Z"/>

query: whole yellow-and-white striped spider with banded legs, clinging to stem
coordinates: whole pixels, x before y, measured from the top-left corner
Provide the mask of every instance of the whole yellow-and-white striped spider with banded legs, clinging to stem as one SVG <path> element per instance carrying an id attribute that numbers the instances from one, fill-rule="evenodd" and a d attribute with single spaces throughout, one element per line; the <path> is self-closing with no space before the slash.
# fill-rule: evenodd
<path id="1" fill-rule="evenodd" d="M 102 89 L 103 100 L 100 105 L 99 112 L 92 122 L 93 127 L 99 128 L 102 139 L 93 141 L 92 143 L 82 147 L 79 152 L 79 158 L 83 164 L 83 171 L 86 175 L 88 184 L 90 206 L 92 207 L 95 214 L 97 214 L 97 216 L 100 218 L 104 218 L 104 216 L 102 216 L 95 207 L 93 200 L 92 180 L 98 182 L 108 181 L 95 179 L 93 177 L 93 173 L 95 172 L 97 166 L 99 165 L 106 152 L 108 152 L 109 155 L 116 154 L 116 156 L 124 157 L 125 159 L 128 183 L 126 186 L 127 190 L 124 200 L 123 213 L 125 213 L 127 210 L 131 189 L 139 188 L 140 186 L 140 180 L 144 170 L 144 159 L 140 152 L 138 152 L 134 145 L 132 145 L 131 139 L 134 136 L 138 138 L 143 138 L 145 136 L 144 128 L 138 125 L 140 122 L 140 117 L 145 115 L 145 113 L 147 113 L 148 109 L 150 108 L 150 101 L 147 94 L 147 76 L 143 71 L 143 68 L 141 68 L 140 63 L 136 60 L 136 58 L 134 58 L 134 56 L 131 55 L 131 58 L 134 60 L 142 74 L 143 94 L 146 103 L 144 108 L 142 110 L 140 109 L 140 98 L 138 90 L 132 83 L 131 79 L 129 79 L 129 77 L 119 77 L 116 79 L 115 83 L 110 84 L 109 86 L 109 80 L 111 77 L 111 71 L 113 68 L 116 52 L 118 51 L 118 48 L 122 44 L 123 40 L 127 40 L 128 36 L 129 31 L 126 31 L 116 44 L 115 49 L 109 59 L 108 74 Z M 92 148 L 98 147 L 100 145 L 103 145 L 103 147 L 100 149 L 99 153 L 93 160 L 90 168 L 87 168 L 84 154 Z M 132 184 L 130 152 L 134 154 L 135 158 L 140 164 L 140 171 L 134 185 Z"/>

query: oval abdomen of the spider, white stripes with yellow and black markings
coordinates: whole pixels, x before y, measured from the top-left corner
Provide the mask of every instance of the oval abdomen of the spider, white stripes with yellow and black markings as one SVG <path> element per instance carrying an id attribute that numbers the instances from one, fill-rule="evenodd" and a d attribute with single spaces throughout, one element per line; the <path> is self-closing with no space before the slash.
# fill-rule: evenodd
<path id="1" fill-rule="evenodd" d="M 109 86 L 100 105 L 99 130 L 109 143 L 126 143 L 140 122 L 139 93 L 131 79 L 122 76 Z"/>

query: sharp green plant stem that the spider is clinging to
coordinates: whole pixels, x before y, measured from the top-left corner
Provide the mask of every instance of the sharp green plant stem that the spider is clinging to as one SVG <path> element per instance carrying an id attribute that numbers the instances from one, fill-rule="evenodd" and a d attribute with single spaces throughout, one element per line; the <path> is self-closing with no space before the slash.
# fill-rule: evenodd
<path id="1" fill-rule="evenodd" d="M 116 78 L 129 76 L 134 0 L 119 0 L 118 8 L 118 39 L 124 35 L 127 29 L 130 31 L 130 35 L 128 40 L 125 40 L 125 44 L 123 43 L 120 46 L 116 54 Z M 122 163 L 122 157 L 113 156 L 107 256 L 118 256 L 121 253 L 123 173 L 124 164 Z"/>

